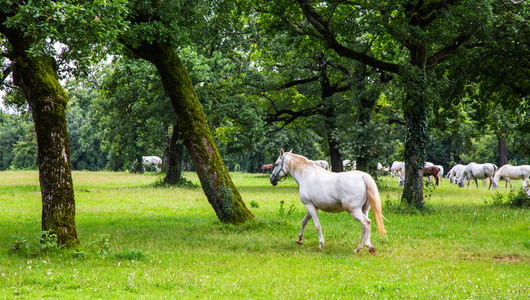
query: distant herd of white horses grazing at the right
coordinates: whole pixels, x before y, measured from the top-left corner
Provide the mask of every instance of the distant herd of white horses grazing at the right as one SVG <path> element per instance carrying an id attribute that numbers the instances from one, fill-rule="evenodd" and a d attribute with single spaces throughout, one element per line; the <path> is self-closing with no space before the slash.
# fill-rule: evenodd
<path id="1" fill-rule="evenodd" d="M 435 166 L 433 163 L 425 162 L 425 167 Z M 456 164 L 445 174 L 442 166 L 436 165 L 440 169 L 438 177 L 441 180 L 443 177 L 448 178 L 450 183 L 458 184 L 460 187 L 464 187 L 466 182 L 467 186 L 471 183 L 471 180 L 475 181 L 475 185 L 478 188 L 478 180 L 482 181 L 483 185 L 486 185 L 486 179 L 489 179 L 489 187 L 493 186 L 496 189 L 499 186 L 499 180 L 505 180 L 505 188 L 508 189 L 508 183 L 512 190 L 513 184 L 512 179 L 521 179 L 523 182 L 523 189 L 529 186 L 530 177 L 530 165 L 512 166 L 504 165 L 498 168 L 495 164 L 485 163 L 469 163 L 467 165 Z M 400 161 L 394 161 L 389 169 L 392 177 L 398 178 L 398 184 L 401 186 L 405 181 L 405 164 Z"/>

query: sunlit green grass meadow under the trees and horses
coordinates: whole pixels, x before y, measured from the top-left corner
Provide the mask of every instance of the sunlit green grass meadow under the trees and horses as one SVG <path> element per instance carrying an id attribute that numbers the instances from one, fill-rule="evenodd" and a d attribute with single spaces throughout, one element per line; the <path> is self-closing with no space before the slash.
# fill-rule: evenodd
<path id="1" fill-rule="evenodd" d="M 39 243 L 37 172 L 0 172 L 0 298 L 530 298 L 530 212 L 488 204 L 508 194 L 504 183 L 489 191 L 444 180 L 426 191 L 426 213 L 405 213 L 397 181 L 383 177 L 388 234 L 381 240 L 374 224 L 372 256 L 353 252 L 360 224 L 346 213 L 320 213 L 324 251 L 312 222 L 297 245 L 305 208 L 292 178 L 273 187 L 267 175 L 232 174 L 256 217 L 236 227 L 185 176 L 196 186 L 74 172 L 82 246 L 70 251 Z"/>

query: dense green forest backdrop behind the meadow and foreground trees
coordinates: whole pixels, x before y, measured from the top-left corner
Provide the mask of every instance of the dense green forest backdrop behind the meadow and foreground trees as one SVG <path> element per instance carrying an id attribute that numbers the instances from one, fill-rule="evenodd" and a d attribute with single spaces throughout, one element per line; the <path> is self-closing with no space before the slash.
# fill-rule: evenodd
<path id="1" fill-rule="evenodd" d="M 212 13 L 208 5 L 187 9 Z M 488 26 L 482 24 L 443 68 L 428 75 L 425 93 L 432 106 L 426 158 L 446 170 L 473 161 L 530 163 L 528 4 L 506 1 L 488 8 L 481 16 Z M 389 166 L 403 160 L 404 80 L 345 59 L 303 31 L 307 28 L 293 29 L 275 19 L 298 15 L 265 5 L 241 6 L 217 19 L 203 14 L 204 24 L 180 33 L 177 52 L 228 169 L 257 172 L 275 160 L 280 148 L 326 160 L 335 151 L 371 169 L 377 162 Z M 353 19 L 350 30 L 359 44 L 370 45 L 366 49 L 373 56 L 408 59 L 390 38 L 374 33 L 379 25 L 371 21 L 361 15 Z M 454 34 L 449 28 L 437 30 L 445 30 L 448 38 Z M 54 47 L 58 53 L 71 49 Z M 167 157 L 176 120 L 151 64 L 109 52 L 106 61 L 69 64 L 58 74 L 69 97 L 72 169 L 133 170 L 139 156 Z M 327 95 L 325 83 L 334 89 Z M 31 111 L 18 88 L 9 81 L 2 87 L 0 170 L 35 169 Z M 186 154 L 183 166 L 193 170 Z"/>

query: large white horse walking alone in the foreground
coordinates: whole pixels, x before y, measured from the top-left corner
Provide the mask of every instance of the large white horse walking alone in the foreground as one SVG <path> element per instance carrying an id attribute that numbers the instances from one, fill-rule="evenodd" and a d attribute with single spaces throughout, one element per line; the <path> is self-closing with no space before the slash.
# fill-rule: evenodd
<path id="1" fill-rule="evenodd" d="M 375 254 L 375 248 L 370 243 L 372 221 L 368 218 L 368 210 L 372 207 L 375 223 L 381 237 L 385 235 L 381 199 L 373 178 L 361 171 L 333 173 L 317 167 L 301 155 L 280 151 L 280 156 L 274 164 L 270 177 L 272 185 L 287 175 L 293 176 L 298 184 L 300 200 L 307 209 L 302 220 L 302 230 L 298 235 L 298 244 L 302 244 L 304 228 L 312 218 L 320 242 L 320 249 L 324 249 L 324 237 L 318 220 L 318 210 L 331 213 L 347 211 L 355 220 L 361 223 L 361 241 L 355 249 L 363 249 L 363 243 L 370 253 Z"/>

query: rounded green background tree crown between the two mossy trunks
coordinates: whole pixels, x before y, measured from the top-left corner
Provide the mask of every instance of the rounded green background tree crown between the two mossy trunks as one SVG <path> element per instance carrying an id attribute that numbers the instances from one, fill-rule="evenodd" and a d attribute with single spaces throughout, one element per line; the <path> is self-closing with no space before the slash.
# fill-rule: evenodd
<path id="1" fill-rule="evenodd" d="M 126 168 L 141 156 L 162 157 L 176 121 L 156 70 L 130 59 L 112 67 L 104 70 L 101 94 L 91 103 L 103 149 L 120 156 Z"/>

